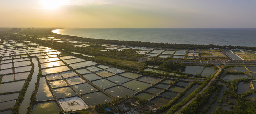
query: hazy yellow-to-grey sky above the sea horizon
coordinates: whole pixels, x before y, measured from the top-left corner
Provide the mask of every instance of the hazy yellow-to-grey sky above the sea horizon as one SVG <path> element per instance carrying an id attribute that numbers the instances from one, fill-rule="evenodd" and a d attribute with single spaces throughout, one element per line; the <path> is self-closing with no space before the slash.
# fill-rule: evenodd
<path id="1" fill-rule="evenodd" d="M 0 0 L 0 26 L 256 28 L 256 0 Z"/>

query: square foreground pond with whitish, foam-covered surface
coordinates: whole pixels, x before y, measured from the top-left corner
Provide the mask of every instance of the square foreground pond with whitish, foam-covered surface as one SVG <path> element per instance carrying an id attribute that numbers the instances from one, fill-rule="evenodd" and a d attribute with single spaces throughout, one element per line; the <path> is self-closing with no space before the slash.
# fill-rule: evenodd
<path id="1" fill-rule="evenodd" d="M 86 105 L 85 102 L 77 96 L 62 98 L 59 100 L 59 103 L 64 111 L 76 111 L 86 109 L 88 107 L 88 105 Z"/>

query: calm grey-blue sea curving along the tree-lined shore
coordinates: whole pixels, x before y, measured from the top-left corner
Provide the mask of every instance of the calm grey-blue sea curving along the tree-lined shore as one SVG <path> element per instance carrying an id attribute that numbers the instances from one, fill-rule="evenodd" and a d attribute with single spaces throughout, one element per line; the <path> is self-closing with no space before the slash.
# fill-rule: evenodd
<path id="1" fill-rule="evenodd" d="M 256 28 L 64 28 L 53 33 L 95 39 L 256 47 Z"/>

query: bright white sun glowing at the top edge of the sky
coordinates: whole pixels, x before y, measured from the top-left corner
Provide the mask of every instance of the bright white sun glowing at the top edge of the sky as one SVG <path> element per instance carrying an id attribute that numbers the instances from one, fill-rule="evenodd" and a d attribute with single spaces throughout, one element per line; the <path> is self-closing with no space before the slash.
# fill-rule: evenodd
<path id="1" fill-rule="evenodd" d="M 44 9 L 56 9 L 68 3 L 69 0 L 41 0 Z"/>

